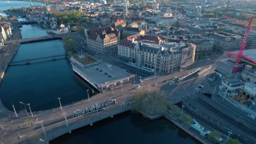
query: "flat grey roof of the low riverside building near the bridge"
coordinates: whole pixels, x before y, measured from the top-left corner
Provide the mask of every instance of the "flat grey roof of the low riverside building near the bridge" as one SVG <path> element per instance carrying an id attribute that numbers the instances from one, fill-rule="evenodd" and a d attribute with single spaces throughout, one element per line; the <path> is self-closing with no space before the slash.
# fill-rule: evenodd
<path id="1" fill-rule="evenodd" d="M 89 76 L 101 86 L 108 85 L 114 81 L 129 77 L 131 74 L 127 73 L 124 69 L 116 67 L 115 65 L 101 61 L 100 64 L 93 65 L 91 67 L 82 68 L 77 63 L 72 63 L 79 70 Z"/>

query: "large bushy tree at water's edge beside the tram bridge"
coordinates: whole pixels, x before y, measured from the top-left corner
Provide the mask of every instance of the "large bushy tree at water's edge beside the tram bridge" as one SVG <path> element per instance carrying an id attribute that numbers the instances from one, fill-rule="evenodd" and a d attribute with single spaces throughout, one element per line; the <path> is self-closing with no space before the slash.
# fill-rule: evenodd
<path id="1" fill-rule="evenodd" d="M 156 87 L 141 88 L 137 90 L 135 95 L 132 98 L 133 101 L 136 101 L 133 104 L 133 109 L 146 114 L 164 113 L 171 104 L 170 101 L 166 100 L 165 93 Z"/>

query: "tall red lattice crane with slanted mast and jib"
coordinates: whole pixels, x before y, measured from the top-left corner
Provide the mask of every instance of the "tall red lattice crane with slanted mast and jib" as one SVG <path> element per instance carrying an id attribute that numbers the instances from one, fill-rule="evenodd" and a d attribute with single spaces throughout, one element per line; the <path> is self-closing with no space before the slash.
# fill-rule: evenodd
<path id="1" fill-rule="evenodd" d="M 234 19 L 232 19 L 232 18 L 230 18 L 230 17 L 228 17 L 228 16 L 223 15 L 223 17 L 225 17 L 226 19 L 229 19 L 230 21 L 234 21 L 234 22 L 236 22 L 236 23 L 238 23 L 238 24 L 240 24 L 240 25 L 245 26 L 245 24 L 243 24 L 243 23 L 241 23 L 241 22 L 239 22 L 239 21 L 237 21 L 237 20 L 234 20 Z M 234 67 L 233 70 L 232 70 L 232 74 L 236 74 L 236 71 L 237 71 L 237 69 L 238 69 L 238 65 L 239 65 L 240 60 L 241 60 L 241 57 L 242 57 L 242 55 L 243 55 L 243 50 L 245 50 L 246 41 L 247 41 L 247 38 L 248 38 L 248 35 L 249 35 L 249 31 L 250 31 L 250 29 L 251 29 L 252 19 L 253 19 L 253 17 L 250 17 L 249 23 L 248 23 L 248 25 L 246 26 L 245 35 L 243 35 L 243 41 L 242 41 L 240 50 L 239 50 L 239 52 L 238 52 L 238 54 L 237 54 L 236 63 L 235 63 L 235 67 Z"/>

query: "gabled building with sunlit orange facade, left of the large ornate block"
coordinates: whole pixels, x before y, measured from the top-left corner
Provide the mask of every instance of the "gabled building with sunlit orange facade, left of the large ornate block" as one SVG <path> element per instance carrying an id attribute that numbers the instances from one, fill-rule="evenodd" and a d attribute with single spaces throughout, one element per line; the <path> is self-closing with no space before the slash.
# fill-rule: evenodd
<path id="1" fill-rule="evenodd" d="M 89 50 L 106 53 L 117 50 L 119 33 L 111 27 L 103 29 L 84 29 L 87 47 Z"/>

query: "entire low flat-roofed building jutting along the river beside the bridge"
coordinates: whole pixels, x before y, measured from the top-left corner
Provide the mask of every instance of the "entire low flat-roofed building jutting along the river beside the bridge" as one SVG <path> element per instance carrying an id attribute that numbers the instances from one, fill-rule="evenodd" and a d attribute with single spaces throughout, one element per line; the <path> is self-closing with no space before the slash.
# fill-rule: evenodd
<path id="1" fill-rule="evenodd" d="M 73 55 L 70 61 L 75 73 L 100 92 L 114 89 L 122 83 L 135 79 L 135 75 L 127 73 L 124 69 L 98 61 L 90 55 Z"/>

